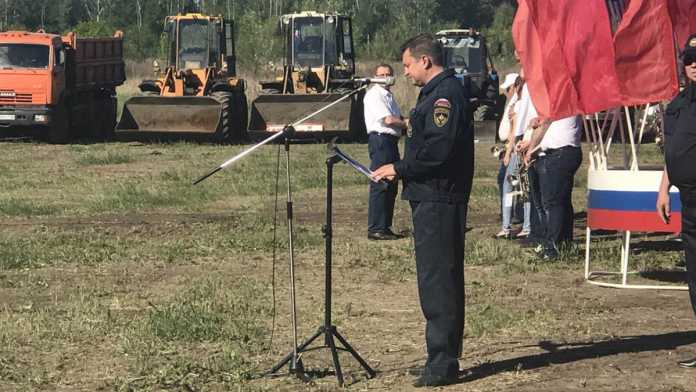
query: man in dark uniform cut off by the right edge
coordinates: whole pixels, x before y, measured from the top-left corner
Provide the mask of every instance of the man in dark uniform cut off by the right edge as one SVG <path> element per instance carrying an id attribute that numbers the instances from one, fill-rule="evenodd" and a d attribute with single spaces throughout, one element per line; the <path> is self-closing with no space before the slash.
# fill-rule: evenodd
<path id="1" fill-rule="evenodd" d="M 684 47 L 686 88 L 667 106 L 665 112 L 665 172 L 662 175 L 657 212 L 669 222 L 669 188 L 679 188 L 682 205 L 682 240 L 686 253 L 686 276 L 691 307 L 696 314 L 696 34 Z M 696 368 L 696 358 L 679 362 Z"/>

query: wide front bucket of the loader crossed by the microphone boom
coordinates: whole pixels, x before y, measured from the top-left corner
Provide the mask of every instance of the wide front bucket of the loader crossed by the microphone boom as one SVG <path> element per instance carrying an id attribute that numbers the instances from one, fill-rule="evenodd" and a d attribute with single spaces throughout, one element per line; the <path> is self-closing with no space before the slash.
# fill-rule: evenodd
<path id="1" fill-rule="evenodd" d="M 263 94 L 252 103 L 249 129 L 277 132 L 284 125 L 323 108 L 341 98 L 341 94 Z M 355 110 L 355 97 L 336 104 L 328 110 L 295 127 L 298 133 L 346 132 Z"/>

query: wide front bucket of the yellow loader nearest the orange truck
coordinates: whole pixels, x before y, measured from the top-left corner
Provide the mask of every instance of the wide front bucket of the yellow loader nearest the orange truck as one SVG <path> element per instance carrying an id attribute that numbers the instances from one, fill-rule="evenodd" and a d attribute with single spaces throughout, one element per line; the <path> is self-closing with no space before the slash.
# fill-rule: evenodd
<path id="1" fill-rule="evenodd" d="M 211 97 L 143 96 L 123 106 L 117 130 L 214 134 L 222 106 Z"/>

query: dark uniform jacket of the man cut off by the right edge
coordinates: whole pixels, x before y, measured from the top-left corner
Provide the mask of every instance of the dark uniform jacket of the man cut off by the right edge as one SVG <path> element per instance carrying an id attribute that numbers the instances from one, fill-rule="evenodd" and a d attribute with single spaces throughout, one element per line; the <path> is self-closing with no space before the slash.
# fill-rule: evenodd
<path id="1" fill-rule="evenodd" d="M 669 182 L 696 189 L 696 83 L 689 83 L 665 111 L 665 162 Z"/>

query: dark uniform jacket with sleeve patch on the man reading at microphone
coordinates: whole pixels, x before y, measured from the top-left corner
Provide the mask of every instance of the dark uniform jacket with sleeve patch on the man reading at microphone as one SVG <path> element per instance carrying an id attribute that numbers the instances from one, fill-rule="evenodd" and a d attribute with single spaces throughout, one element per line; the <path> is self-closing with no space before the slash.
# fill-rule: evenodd
<path id="1" fill-rule="evenodd" d="M 468 92 L 446 70 L 426 84 L 411 111 L 404 158 L 394 164 L 410 201 L 467 203 L 474 175 Z"/>

